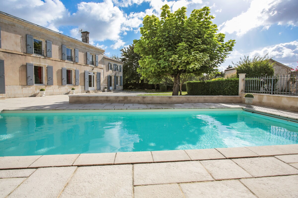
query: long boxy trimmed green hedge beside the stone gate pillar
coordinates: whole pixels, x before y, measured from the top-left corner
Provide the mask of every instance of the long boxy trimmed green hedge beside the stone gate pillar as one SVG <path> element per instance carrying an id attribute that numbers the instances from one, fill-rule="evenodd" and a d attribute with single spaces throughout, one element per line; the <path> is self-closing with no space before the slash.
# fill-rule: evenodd
<path id="1" fill-rule="evenodd" d="M 189 81 L 186 88 L 189 96 L 238 96 L 239 78 Z"/>

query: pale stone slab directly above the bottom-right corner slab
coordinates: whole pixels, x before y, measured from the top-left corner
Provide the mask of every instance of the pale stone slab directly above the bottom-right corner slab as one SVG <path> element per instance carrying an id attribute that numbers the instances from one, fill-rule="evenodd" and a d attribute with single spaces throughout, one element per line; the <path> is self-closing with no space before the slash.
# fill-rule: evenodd
<path id="1" fill-rule="evenodd" d="M 298 170 L 274 157 L 232 159 L 254 177 L 298 174 Z"/>

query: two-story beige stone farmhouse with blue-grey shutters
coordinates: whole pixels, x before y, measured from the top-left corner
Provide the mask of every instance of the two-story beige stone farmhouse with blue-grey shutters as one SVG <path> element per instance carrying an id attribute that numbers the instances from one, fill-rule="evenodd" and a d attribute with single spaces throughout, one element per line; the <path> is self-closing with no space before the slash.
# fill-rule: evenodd
<path id="1" fill-rule="evenodd" d="M 0 97 L 122 90 L 122 62 L 103 49 L 0 12 Z"/>

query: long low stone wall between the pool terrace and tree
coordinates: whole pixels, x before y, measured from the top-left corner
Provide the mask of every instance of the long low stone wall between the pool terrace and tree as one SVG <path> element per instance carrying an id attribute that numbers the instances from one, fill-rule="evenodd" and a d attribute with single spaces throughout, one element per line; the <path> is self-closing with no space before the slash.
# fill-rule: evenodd
<path id="1" fill-rule="evenodd" d="M 241 96 L 90 96 L 70 95 L 69 103 L 241 103 Z"/>

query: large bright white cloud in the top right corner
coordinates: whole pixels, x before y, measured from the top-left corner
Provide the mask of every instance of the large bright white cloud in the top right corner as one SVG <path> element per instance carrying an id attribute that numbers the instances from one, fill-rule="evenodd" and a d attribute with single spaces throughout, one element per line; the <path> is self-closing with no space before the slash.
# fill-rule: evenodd
<path id="1" fill-rule="evenodd" d="M 253 28 L 268 29 L 272 24 L 298 26 L 297 0 L 252 0 L 246 12 L 222 23 L 222 33 L 246 34 Z"/>

